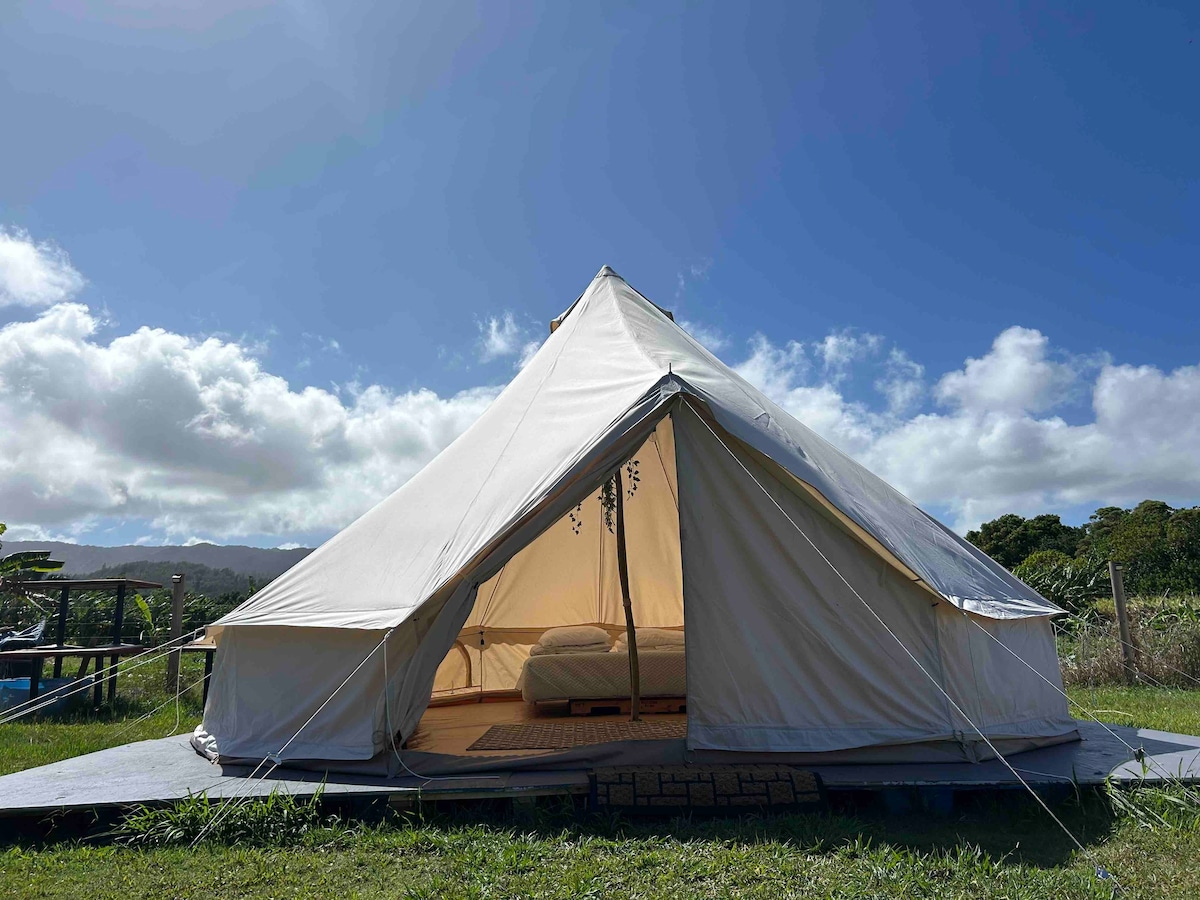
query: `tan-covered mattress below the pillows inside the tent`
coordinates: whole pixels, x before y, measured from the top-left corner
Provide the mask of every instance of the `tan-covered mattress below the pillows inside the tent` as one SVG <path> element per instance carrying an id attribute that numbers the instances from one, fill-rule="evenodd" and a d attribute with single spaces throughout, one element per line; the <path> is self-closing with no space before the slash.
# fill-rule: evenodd
<path id="1" fill-rule="evenodd" d="M 685 697 L 685 654 L 641 650 L 637 654 L 643 697 Z M 608 700 L 628 697 L 628 653 L 559 653 L 530 656 L 521 670 L 521 696 L 539 700 Z"/>

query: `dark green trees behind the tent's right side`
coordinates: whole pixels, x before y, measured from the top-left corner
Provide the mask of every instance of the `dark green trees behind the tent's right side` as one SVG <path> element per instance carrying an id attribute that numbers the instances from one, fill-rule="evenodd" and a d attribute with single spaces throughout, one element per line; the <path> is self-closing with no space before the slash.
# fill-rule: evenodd
<path id="1" fill-rule="evenodd" d="M 1142 500 L 1102 506 L 1081 526 L 1046 514 L 984 522 L 967 540 L 1055 602 L 1075 607 L 1108 590 L 1121 563 L 1130 594 L 1200 594 L 1200 506 Z"/>

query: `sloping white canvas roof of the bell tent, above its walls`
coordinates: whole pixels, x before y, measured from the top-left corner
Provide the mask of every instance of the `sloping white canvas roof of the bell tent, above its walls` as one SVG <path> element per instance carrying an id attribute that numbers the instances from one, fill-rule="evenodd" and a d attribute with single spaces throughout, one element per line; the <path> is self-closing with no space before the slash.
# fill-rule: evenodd
<path id="1" fill-rule="evenodd" d="M 608 266 L 559 322 L 428 466 L 216 624 L 395 626 L 679 392 L 948 602 L 991 618 L 1061 612 L 768 400 Z"/>

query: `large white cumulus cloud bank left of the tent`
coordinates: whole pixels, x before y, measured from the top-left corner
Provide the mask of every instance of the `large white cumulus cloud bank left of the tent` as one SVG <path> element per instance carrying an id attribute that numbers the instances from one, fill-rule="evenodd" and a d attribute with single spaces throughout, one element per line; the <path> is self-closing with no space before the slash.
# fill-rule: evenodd
<path id="1" fill-rule="evenodd" d="M 142 328 L 104 343 L 59 304 L 0 329 L 6 521 L 143 520 L 169 539 L 337 528 L 413 475 L 498 394 L 292 390 L 234 341 Z"/>

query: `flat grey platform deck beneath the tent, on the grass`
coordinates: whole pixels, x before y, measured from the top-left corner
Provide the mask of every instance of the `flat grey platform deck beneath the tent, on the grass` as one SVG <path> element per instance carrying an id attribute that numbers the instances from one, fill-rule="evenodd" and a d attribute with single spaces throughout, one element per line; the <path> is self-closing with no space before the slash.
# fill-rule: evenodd
<path id="1" fill-rule="evenodd" d="M 499 710 L 494 714 L 502 715 Z M 508 715 L 512 714 L 509 710 Z M 474 739 L 469 734 L 472 730 L 486 727 L 484 724 L 469 728 L 461 725 L 461 733 L 438 739 L 454 740 L 455 746 L 464 746 Z M 1200 737 L 1111 727 L 1134 746 L 1145 748 L 1151 767 L 1147 781 L 1159 780 L 1156 773 L 1169 773 L 1171 778 L 1200 782 Z M 1141 764 L 1117 739 L 1092 722 L 1079 722 L 1079 731 L 1082 740 L 1014 754 L 1009 761 L 1026 781 L 1038 788 L 1061 787 L 1072 781 L 1097 785 L 1109 774 L 1126 781 L 1141 778 Z M 1013 774 L 997 760 L 983 763 L 822 764 L 806 768 L 821 776 L 827 791 L 1019 787 Z M 186 734 L 143 740 L 0 778 L 0 817 L 167 803 L 202 792 L 214 798 L 259 797 L 282 790 L 310 797 L 323 790 L 330 799 L 386 800 L 394 804 L 406 804 L 418 792 L 425 800 L 588 792 L 587 769 L 497 772 L 493 778 L 462 776 L 433 781 L 413 776 L 389 779 L 298 769 L 277 769 L 265 780 L 248 781 L 248 774 L 250 767 L 210 763 L 192 749 Z"/>

